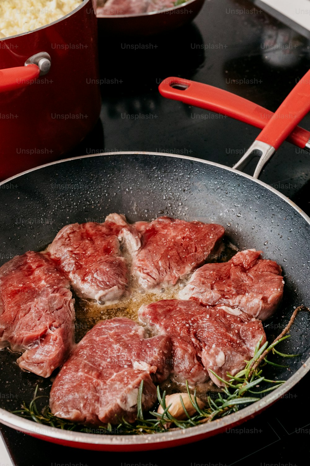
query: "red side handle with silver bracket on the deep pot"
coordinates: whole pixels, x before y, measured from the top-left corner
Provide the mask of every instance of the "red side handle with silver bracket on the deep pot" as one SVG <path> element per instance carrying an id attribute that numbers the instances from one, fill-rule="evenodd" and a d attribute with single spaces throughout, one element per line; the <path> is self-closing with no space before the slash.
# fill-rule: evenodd
<path id="1" fill-rule="evenodd" d="M 51 68 L 51 57 L 46 52 L 35 54 L 24 66 L 0 70 L 0 92 L 24 88 L 37 77 L 46 75 Z"/>

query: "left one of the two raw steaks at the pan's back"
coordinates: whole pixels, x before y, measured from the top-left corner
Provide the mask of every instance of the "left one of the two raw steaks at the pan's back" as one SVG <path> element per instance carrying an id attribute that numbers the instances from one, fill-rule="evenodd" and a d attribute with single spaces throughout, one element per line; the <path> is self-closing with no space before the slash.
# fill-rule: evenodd
<path id="1" fill-rule="evenodd" d="M 80 298 L 114 301 L 124 294 L 128 284 L 120 241 L 129 253 L 140 246 L 138 233 L 124 217 L 111 214 L 104 223 L 64 226 L 49 245 L 48 252 Z"/>

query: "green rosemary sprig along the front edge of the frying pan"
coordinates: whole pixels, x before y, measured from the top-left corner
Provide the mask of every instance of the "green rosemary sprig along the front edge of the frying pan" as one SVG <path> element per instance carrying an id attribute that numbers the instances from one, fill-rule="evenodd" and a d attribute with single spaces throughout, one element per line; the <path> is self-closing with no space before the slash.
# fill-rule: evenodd
<path id="1" fill-rule="evenodd" d="M 277 387 L 284 384 L 285 380 L 270 380 L 264 377 L 262 367 L 264 367 L 266 364 L 271 364 L 275 367 L 287 367 L 269 361 L 267 359 L 267 355 L 269 353 L 282 357 L 299 356 L 282 353 L 275 349 L 275 347 L 277 344 L 283 342 L 286 338 L 289 338 L 287 333 L 290 330 L 290 327 L 293 324 L 297 313 L 303 309 L 309 310 L 303 306 L 299 306 L 297 309 L 295 309 L 288 325 L 270 345 L 268 345 L 268 342 L 265 342 L 262 345 L 261 339 L 257 343 L 254 356 L 250 361 L 245 361 L 245 368 L 240 370 L 235 376 L 227 374 L 228 379 L 224 380 L 209 369 L 210 372 L 224 384 L 224 387 L 222 392 L 217 393 L 217 397 L 215 399 L 212 399 L 210 395 L 207 396 L 206 404 L 203 408 L 199 407 L 197 401 L 197 390 L 195 389 L 192 395 L 189 384 L 186 382 L 186 391 L 189 395 L 192 406 L 196 410 L 196 413 L 193 416 L 189 415 L 185 408 L 183 399 L 180 396 L 180 403 L 182 404 L 183 410 L 186 414 L 185 420 L 176 419 L 171 415 L 169 412 L 171 405 L 166 404 L 166 391 L 161 393 L 159 386 L 157 387 L 157 404 L 155 405 L 155 410 L 159 405 L 161 405 L 163 412 L 158 413 L 157 411 L 149 411 L 147 415 L 145 415 L 143 413 L 142 404 L 143 381 L 139 386 L 137 397 L 137 420 L 133 424 L 128 423 L 125 419 L 121 419 L 119 420 L 119 425 L 117 425 L 117 427 L 112 427 L 111 424 L 108 424 L 107 426 L 100 426 L 96 429 L 92 429 L 86 425 L 79 425 L 66 419 L 57 418 L 53 416 L 48 405 L 44 406 L 41 410 L 39 410 L 37 407 L 37 402 L 41 398 L 48 398 L 38 396 L 38 385 L 35 389 L 33 400 L 30 402 L 29 406 L 26 406 L 26 404 L 23 403 L 22 409 L 13 411 L 13 413 L 25 418 L 33 419 L 33 421 L 37 423 L 51 425 L 52 427 L 57 427 L 60 429 L 102 434 L 150 434 L 166 432 L 167 430 L 171 430 L 171 425 L 174 426 L 173 428 L 187 429 L 191 426 L 200 425 L 205 422 L 211 422 L 216 418 L 223 418 L 224 416 L 227 416 L 234 411 L 238 411 L 240 406 L 243 407 L 246 404 L 253 403 L 260 399 L 260 397 L 251 396 L 252 394 L 261 395 L 262 393 L 275 390 Z M 263 390 L 259 391 L 253 390 L 254 387 L 258 387 L 261 384 L 264 384 L 264 386 L 267 385 L 266 388 L 263 387 Z"/>

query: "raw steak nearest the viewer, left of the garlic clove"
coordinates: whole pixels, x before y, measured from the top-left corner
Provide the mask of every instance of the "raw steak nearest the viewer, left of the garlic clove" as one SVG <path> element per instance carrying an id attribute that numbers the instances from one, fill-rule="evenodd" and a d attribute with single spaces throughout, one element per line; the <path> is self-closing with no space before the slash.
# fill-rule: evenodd
<path id="1" fill-rule="evenodd" d="M 156 401 L 153 382 L 171 371 L 171 341 L 145 338 L 145 329 L 127 318 L 98 322 L 73 350 L 50 394 L 55 416 L 83 424 L 118 424 L 137 417 L 143 380 L 143 409 Z"/>

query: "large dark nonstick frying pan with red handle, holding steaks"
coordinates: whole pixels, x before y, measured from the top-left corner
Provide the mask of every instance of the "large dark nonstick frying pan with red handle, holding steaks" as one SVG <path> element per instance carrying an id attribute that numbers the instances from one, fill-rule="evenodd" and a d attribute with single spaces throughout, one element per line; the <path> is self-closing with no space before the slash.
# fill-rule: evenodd
<path id="1" fill-rule="evenodd" d="M 296 125 L 310 106 L 309 84 L 301 82 L 294 93 L 281 111 L 289 105 Z M 269 154 L 270 143 L 277 147 L 294 123 L 271 118 L 263 137 L 258 138 L 264 139 L 260 141 L 262 151 L 266 148 Z M 265 158 L 260 167 L 264 162 Z M 263 250 L 266 258 L 283 267 L 284 301 L 270 330 L 266 327 L 269 341 L 284 328 L 294 306 L 310 303 L 310 218 L 280 192 L 235 169 L 186 156 L 111 152 L 42 165 L 7 179 L 0 187 L 1 263 L 28 249 L 43 249 L 68 223 L 100 221 L 111 212 L 124 213 L 129 222 L 170 215 L 220 223 L 238 248 Z M 22 401 L 29 403 L 37 384 L 39 393 L 48 395 L 51 382 L 21 371 L 14 363 L 16 355 L 9 351 L 0 353 L 0 391 L 7 394 L 0 398 L 0 421 L 40 439 L 93 450 L 149 450 L 203 439 L 254 417 L 308 372 L 309 322 L 308 313 L 299 313 L 291 338 L 282 347 L 285 352 L 300 353 L 289 359 L 288 369 L 277 368 L 277 376 L 285 379 L 285 384 L 255 404 L 209 424 L 141 436 L 79 433 L 38 425 L 9 411 L 18 409 Z"/>

